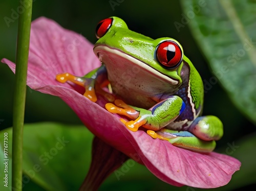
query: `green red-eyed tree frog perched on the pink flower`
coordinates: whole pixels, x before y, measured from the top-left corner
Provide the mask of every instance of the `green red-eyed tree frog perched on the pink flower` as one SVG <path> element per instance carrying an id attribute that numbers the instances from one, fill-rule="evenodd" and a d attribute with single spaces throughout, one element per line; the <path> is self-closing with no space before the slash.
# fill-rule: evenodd
<path id="1" fill-rule="evenodd" d="M 102 66 L 84 77 L 58 74 L 59 82 L 85 87 L 84 96 L 93 102 L 97 93 L 108 93 L 102 89 L 108 86 L 113 98 L 105 108 L 129 118 L 122 122 L 132 131 L 141 129 L 196 152 L 215 149 L 215 140 L 223 135 L 222 122 L 216 116 L 200 116 L 202 79 L 178 41 L 133 32 L 118 17 L 100 21 L 96 36 L 93 50 Z"/>

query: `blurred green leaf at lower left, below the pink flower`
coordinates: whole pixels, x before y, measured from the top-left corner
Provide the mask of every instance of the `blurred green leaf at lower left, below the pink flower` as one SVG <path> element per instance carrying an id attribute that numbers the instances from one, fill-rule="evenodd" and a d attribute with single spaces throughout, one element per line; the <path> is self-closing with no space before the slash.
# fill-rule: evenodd
<path id="1" fill-rule="evenodd" d="M 0 132 L 1 155 L 4 133 L 8 133 L 8 181 L 11 186 L 12 128 Z M 93 134 L 84 126 L 26 124 L 23 189 L 27 190 L 26 184 L 32 180 L 46 190 L 78 190 L 90 167 L 92 139 Z M 3 168 L 1 162 L 1 176 Z"/>

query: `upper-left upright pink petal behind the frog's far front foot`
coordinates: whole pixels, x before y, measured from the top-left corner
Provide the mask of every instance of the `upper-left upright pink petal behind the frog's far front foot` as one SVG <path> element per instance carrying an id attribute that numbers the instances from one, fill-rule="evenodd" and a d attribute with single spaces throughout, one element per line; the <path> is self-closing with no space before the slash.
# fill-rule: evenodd
<path id="1" fill-rule="evenodd" d="M 56 74 L 84 76 L 101 65 L 93 53 L 92 43 L 45 17 L 32 22 L 29 48 L 28 84 L 32 89 L 60 85 L 54 80 Z M 2 62 L 10 64 L 7 59 Z M 15 65 L 9 66 L 14 72 Z M 30 82 L 30 79 L 33 81 Z M 70 87 L 67 83 L 62 86 Z"/>

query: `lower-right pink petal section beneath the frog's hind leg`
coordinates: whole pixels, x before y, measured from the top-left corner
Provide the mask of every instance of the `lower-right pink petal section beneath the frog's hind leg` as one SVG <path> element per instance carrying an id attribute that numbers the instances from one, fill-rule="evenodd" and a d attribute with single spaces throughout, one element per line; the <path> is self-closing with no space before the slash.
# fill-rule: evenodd
<path id="1" fill-rule="evenodd" d="M 165 182 L 162 175 L 192 187 L 214 188 L 227 184 L 231 175 L 240 168 L 237 159 L 211 152 L 197 153 L 169 144 L 168 141 L 152 139 L 145 132 L 126 133 L 139 146 L 137 152 L 147 168 Z M 158 173 L 159 176 L 156 174 Z M 169 183 L 169 182 L 168 182 Z"/>

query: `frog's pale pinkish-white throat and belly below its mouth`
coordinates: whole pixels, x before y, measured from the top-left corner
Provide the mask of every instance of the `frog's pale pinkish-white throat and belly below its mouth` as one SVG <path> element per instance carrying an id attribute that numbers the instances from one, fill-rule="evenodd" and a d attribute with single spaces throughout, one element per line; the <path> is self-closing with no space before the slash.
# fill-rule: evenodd
<path id="1" fill-rule="evenodd" d="M 129 61 L 115 59 L 112 63 L 105 64 L 108 79 L 113 92 L 127 104 L 148 109 L 156 104 L 152 98 L 174 90 L 171 84 Z"/>

